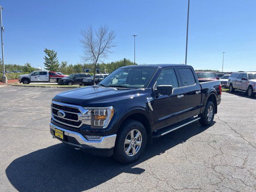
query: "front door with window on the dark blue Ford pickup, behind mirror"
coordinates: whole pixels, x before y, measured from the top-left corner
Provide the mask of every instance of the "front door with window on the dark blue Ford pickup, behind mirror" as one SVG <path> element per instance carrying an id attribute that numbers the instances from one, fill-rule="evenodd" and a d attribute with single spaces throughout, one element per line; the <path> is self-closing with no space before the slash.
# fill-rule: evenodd
<path id="1" fill-rule="evenodd" d="M 184 107 L 183 88 L 179 86 L 174 68 L 162 70 L 156 80 L 154 89 L 158 85 L 172 85 L 173 92 L 170 96 L 159 95 L 153 98 L 151 105 L 153 109 L 152 116 L 155 122 L 154 129 L 180 121 Z"/>

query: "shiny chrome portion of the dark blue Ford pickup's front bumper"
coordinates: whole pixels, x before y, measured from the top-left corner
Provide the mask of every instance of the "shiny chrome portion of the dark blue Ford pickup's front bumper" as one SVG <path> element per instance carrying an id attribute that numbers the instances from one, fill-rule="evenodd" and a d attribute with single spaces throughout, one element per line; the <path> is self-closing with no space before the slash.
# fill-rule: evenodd
<path id="1" fill-rule="evenodd" d="M 60 128 L 60 127 L 50 123 L 50 130 L 52 129 L 52 130 L 55 131 L 55 128 L 57 128 L 58 130 L 62 130 L 64 132 L 64 135 L 75 138 L 77 140 L 77 142 L 79 143 L 79 145 L 61 140 L 58 137 L 56 137 L 58 140 L 66 143 L 66 144 L 76 146 L 77 148 L 83 148 L 83 149 L 93 149 L 93 148 L 95 148 L 95 149 L 111 149 L 111 148 L 114 148 L 114 146 L 115 146 L 116 134 L 110 135 L 110 136 L 102 136 L 102 138 L 100 140 L 87 140 L 80 133 L 70 131 L 70 130 L 66 130 L 66 129 Z M 52 134 L 52 132 L 51 132 L 51 134 Z M 52 134 L 52 136 L 54 136 L 54 134 Z"/>

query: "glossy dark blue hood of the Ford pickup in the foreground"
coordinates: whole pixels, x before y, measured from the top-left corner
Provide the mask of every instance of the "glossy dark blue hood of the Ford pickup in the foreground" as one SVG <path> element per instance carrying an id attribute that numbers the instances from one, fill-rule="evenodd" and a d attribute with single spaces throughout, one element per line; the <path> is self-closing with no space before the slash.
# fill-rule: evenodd
<path id="1" fill-rule="evenodd" d="M 140 89 L 88 86 L 62 92 L 53 100 L 84 107 L 106 107 L 112 102 L 122 102 L 140 95 Z"/>

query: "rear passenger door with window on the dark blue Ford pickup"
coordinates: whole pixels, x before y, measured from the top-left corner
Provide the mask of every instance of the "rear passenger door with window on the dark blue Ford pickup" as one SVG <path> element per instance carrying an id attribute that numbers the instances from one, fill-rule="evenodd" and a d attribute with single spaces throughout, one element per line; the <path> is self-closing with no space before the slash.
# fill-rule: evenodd
<path id="1" fill-rule="evenodd" d="M 184 90 L 183 118 L 198 115 L 201 109 L 201 86 L 196 80 L 192 68 L 178 68 L 180 81 Z"/>

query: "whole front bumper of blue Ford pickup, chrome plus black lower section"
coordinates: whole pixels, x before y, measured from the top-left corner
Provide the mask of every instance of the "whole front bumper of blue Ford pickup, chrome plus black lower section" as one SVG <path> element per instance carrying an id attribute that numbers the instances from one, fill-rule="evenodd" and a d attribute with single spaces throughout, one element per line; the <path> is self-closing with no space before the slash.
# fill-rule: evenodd
<path id="1" fill-rule="evenodd" d="M 55 137 L 55 128 L 64 132 L 64 139 Z M 66 130 L 50 123 L 50 132 L 56 139 L 74 146 L 76 149 L 82 149 L 84 152 L 99 156 L 112 156 L 116 142 L 116 134 L 102 136 L 100 140 L 87 140 L 80 133 Z"/>

